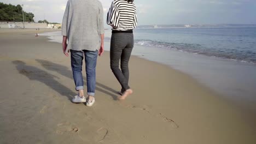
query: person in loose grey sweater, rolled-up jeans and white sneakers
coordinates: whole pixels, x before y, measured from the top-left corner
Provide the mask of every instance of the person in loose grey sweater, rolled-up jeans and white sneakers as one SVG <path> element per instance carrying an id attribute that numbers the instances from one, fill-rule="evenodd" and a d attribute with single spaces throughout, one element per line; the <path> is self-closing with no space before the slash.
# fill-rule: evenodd
<path id="1" fill-rule="evenodd" d="M 78 94 L 73 103 L 95 103 L 96 63 L 97 55 L 104 51 L 103 8 L 98 0 L 68 0 L 62 21 L 63 53 L 71 52 L 71 67 L 75 90 Z M 68 39 L 68 44 L 67 44 Z M 85 61 L 87 95 L 84 95 L 82 75 L 83 60 Z"/>

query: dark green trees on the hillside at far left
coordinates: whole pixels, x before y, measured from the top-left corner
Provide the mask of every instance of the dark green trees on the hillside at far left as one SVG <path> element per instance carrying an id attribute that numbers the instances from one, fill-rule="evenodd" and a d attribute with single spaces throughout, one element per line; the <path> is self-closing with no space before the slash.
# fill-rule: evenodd
<path id="1" fill-rule="evenodd" d="M 26 22 L 34 21 L 34 14 L 24 11 L 24 20 Z M 0 21 L 23 21 L 22 7 L 20 4 L 17 6 L 11 4 L 4 4 L 0 2 Z"/>

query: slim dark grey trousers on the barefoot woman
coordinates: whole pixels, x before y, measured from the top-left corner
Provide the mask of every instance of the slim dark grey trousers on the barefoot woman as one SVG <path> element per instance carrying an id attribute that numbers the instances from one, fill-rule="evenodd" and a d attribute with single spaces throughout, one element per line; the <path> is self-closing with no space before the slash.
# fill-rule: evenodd
<path id="1" fill-rule="evenodd" d="M 121 92 L 129 87 L 129 59 L 133 48 L 133 33 L 112 33 L 110 42 L 110 68 L 119 81 Z M 119 61 L 121 59 L 121 70 Z"/>

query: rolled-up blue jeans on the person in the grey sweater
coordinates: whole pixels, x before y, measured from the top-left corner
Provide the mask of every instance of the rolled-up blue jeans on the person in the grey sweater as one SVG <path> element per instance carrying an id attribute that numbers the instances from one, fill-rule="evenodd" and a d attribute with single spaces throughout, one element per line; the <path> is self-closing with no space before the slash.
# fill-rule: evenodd
<path id="1" fill-rule="evenodd" d="M 94 96 L 96 87 L 96 63 L 98 51 L 74 51 L 71 50 L 71 67 L 75 82 L 75 90 L 84 89 L 84 80 L 82 75 L 83 59 L 85 57 L 85 70 L 87 82 L 87 94 Z"/>

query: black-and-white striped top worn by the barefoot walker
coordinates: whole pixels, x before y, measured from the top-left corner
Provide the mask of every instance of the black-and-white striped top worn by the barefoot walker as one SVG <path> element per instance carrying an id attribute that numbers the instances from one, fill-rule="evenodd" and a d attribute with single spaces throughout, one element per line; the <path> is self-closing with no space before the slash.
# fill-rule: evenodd
<path id="1" fill-rule="evenodd" d="M 127 31 L 137 26 L 135 4 L 124 0 L 114 0 L 108 10 L 107 23 L 112 30 Z"/>

